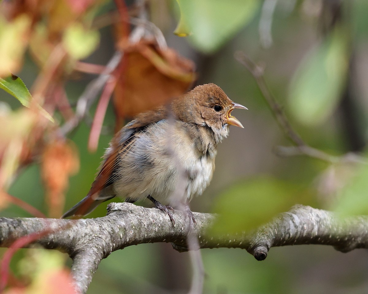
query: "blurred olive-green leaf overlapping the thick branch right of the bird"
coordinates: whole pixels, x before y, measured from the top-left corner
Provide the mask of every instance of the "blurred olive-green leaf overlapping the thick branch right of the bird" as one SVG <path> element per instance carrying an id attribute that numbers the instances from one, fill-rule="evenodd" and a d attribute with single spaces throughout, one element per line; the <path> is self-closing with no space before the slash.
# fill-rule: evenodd
<path id="1" fill-rule="evenodd" d="M 216 233 L 237 233 L 255 229 L 305 201 L 308 193 L 295 184 L 260 177 L 234 184 L 217 197 L 214 212 L 219 214 L 212 229 Z M 305 204 L 305 203 L 303 203 Z"/>

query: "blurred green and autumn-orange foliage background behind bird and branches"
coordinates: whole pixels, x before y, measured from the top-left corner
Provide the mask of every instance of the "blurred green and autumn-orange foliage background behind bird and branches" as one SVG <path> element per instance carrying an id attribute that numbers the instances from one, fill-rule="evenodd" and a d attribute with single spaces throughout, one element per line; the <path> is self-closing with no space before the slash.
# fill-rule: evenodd
<path id="1" fill-rule="evenodd" d="M 254 77 L 234 58 L 244 51 L 265 68 L 271 93 L 310 146 L 364 156 L 367 9 L 365 0 L 1 2 L 0 87 L 9 89 L 3 81 L 13 83 L 13 73 L 32 94 L 22 87 L 0 94 L 1 216 L 60 217 L 88 192 L 114 129 L 185 92 L 193 79 L 216 83 L 249 108 L 235 113 L 245 129 L 231 127 L 219 146 L 212 183 L 191 202 L 193 211 L 222 213 L 214 230 L 251 229 L 296 203 L 367 214 L 367 166 L 277 156 L 276 146 L 292 143 Z M 141 35 L 135 30 L 142 26 L 139 19 L 145 24 Z M 169 49 L 161 44 L 165 39 Z M 124 52 L 123 60 L 98 101 L 66 132 L 86 85 L 115 50 Z M 88 217 L 105 213 L 103 204 Z M 366 254 L 306 245 L 273 248 L 257 262 L 239 249 L 202 250 L 204 293 L 362 293 L 368 287 Z M 52 273 L 68 280 L 64 261 L 68 265 L 65 254 L 18 251 L 7 293 L 51 293 L 43 287 Z M 33 271 L 26 270 L 30 265 Z M 128 247 L 103 260 L 88 293 L 182 292 L 190 272 L 188 255 L 170 244 Z M 56 288 L 71 293 L 66 285 Z"/>

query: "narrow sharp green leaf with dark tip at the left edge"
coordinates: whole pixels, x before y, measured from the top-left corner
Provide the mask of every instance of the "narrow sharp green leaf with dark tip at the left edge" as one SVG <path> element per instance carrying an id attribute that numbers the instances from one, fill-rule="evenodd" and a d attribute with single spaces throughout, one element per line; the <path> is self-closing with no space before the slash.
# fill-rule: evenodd
<path id="1" fill-rule="evenodd" d="M 38 103 L 33 101 L 31 93 L 29 93 L 26 85 L 24 85 L 22 79 L 18 76 L 11 75 L 5 79 L 0 78 L 0 88 L 17 98 L 25 107 L 30 107 L 34 103 L 43 116 L 49 119 L 49 121 L 54 122 L 52 116 Z"/>

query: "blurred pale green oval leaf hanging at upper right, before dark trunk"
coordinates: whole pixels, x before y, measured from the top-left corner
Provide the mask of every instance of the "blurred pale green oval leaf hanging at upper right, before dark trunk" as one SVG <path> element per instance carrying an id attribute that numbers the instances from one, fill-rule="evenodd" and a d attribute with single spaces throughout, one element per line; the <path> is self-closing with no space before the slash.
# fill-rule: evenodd
<path id="1" fill-rule="evenodd" d="M 301 123 L 317 125 L 332 114 L 344 88 L 347 66 L 346 35 L 336 27 L 301 62 L 291 82 L 290 110 Z"/>

